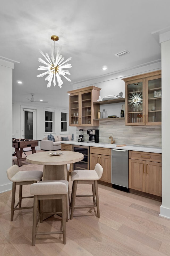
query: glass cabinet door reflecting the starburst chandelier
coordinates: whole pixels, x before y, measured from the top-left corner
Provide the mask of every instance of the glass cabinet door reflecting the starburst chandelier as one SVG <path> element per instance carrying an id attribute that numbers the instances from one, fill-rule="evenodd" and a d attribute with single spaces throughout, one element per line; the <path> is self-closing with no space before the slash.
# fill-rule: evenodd
<path id="1" fill-rule="evenodd" d="M 127 122 L 141 125 L 143 122 L 143 81 L 127 85 L 128 106 Z"/>

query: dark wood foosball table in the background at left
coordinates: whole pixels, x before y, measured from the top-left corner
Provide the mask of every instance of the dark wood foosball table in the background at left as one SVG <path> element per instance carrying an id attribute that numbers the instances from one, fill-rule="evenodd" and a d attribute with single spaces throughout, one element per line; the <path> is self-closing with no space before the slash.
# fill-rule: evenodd
<path id="1" fill-rule="evenodd" d="M 22 166 L 22 161 L 26 160 L 26 157 L 22 158 L 22 154 L 24 151 L 24 148 L 31 147 L 32 154 L 36 153 L 35 147 L 38 146 L 38 143 L 41 140 L 35 140 L 35 139 L 12 139 L 12 147 L 15 148 L 15 153 L 12 155 L 16 155 L 17 157 L 17 164 L 18 166 Z M 25 154 L 26 156 L 26 154 Z"/>

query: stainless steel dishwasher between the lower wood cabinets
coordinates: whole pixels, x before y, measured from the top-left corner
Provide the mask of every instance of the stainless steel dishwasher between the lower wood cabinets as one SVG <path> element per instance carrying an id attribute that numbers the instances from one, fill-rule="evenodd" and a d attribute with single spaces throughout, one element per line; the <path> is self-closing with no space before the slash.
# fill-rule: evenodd
<path id="1" fill-rule="evenodd" d="M 128 150 L 112 149 L 112 187 L 128 189 Z"/>

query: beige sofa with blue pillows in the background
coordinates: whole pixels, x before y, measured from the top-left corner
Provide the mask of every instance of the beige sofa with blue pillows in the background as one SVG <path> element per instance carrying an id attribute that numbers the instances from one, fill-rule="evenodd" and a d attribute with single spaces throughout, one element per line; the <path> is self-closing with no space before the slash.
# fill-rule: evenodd
<path id="1" fill-rule="evenodd" d="M 61 137 L 68 137 L 69 141 L 71 141 L 72 135 L 62 135 L 62 136 L 57 136 L 54 135 L 55 142 L 53 141 L 48 141 L 47 137 L 41 140 L 41 150 L 59 150 L 61 149 L 61 143 L 62 143 L 62 138 Z"/>

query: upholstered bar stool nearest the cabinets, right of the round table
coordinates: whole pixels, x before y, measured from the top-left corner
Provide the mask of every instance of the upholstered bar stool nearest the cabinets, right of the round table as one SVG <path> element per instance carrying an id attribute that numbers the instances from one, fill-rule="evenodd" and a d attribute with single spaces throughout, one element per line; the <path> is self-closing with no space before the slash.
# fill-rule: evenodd
<path id="1" fill-rule="evenodd" d="M 97 181 L 103 174 L 103 167 L 97 163 L 94 170 L 75 170 L 71 172 L 71 180 L 73 181 L 73 187 L 71 192 L 71 216 L 73 219 L 73 212 L 76 208 L 97 208 L 97 217 L 100 218 L 99 211 L 99 195 Z M 78 183 L 90 183 L 92 184 L 92 195 L 76 195 Z M 93 197 L 93 205 L 75 206 L 76 197 Z"/>

